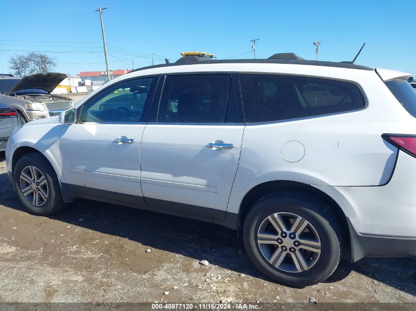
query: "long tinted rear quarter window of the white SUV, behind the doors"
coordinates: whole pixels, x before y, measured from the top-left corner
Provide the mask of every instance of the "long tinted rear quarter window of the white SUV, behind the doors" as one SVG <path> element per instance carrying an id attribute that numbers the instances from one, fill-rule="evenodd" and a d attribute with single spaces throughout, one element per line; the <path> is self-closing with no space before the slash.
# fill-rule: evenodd
<path id="1" fill-rule="evenodd" d="M 246 122 L 267 122 L 361 109 L 352 83 L 281 75 L 240 75 Z"/>

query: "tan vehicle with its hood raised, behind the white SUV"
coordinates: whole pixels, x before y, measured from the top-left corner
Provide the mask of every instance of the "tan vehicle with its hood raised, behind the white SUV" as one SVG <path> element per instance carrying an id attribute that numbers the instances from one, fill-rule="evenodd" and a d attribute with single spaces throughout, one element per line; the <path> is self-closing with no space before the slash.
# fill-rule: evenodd
<path id="1" fill-rule="evenodd" d="M 36 73 L 22 79 L 0 77 L 0 101 L 16 109 L 22 124 L 58 115 L 73 106 L 70 98 L 53 94 L 65 78 L 65 74 L 56 72 Z"/>

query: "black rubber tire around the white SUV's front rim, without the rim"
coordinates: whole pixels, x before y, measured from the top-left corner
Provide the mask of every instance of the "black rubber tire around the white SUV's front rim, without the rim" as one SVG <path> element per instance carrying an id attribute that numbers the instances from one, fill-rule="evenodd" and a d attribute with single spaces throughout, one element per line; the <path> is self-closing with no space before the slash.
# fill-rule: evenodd
<path id="1" fill-rule="evenodd" d="M 21 189 L 20 174 L 28 166 L 36 167 L 45 177 L 48 196 L 41 206 L 35 206 L 25 198 Z M 60 211 L 66 205 L 61 194 L 61 187 L 55 170 L 49 161 L 39 153 L 28 153 L 22 156 L 16 163 L 14 168 L 13 178 L 17 195 L 25 206 L 25 208 L 32 214 L 48 216 Z"/>

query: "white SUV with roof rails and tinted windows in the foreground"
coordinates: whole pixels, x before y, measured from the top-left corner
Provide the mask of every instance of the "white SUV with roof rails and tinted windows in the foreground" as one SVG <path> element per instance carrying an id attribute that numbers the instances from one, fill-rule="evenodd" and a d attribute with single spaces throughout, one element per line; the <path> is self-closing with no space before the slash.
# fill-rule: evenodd
<path id="1" fill-rule="evenodd" d="M 282 57 L 141 68 L 26 124 L 6 148 L 20 200 L 37 215 L 88 198 L 234 228 L 291 286 L 341 256 L 415 256 L 410 75 Z"/>

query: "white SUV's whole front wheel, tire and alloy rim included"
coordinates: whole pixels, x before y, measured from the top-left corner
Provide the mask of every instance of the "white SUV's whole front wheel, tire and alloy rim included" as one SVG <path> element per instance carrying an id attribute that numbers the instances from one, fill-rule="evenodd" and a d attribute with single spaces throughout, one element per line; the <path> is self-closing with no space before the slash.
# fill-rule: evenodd
<path id="1" fill-rule="evenodd" d="M 47 216 L 65 206 L 55 170 L 42 155 L 22 156 L 13 177 L 19 199 L 31 213 Z"/>

